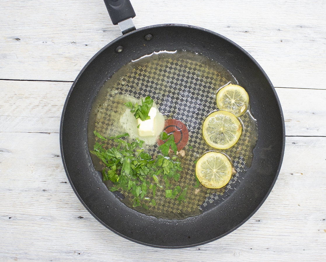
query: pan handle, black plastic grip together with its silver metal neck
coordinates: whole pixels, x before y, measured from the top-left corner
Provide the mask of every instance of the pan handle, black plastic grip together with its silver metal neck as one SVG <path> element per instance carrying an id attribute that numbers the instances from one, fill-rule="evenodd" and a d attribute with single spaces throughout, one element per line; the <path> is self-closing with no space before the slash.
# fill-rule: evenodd
<path id="1" fill-rule="evenodd" d="M 123 34 L 136 30 L 132 21 L 136 14 L 129 0 L 104 0 L 104 4 L 112 23 L 119 24 Z"/>

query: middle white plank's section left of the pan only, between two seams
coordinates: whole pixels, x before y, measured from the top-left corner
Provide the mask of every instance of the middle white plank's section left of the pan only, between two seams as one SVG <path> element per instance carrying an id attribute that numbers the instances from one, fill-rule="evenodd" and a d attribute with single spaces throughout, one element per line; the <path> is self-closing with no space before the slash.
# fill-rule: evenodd
<path id="1" fill-rule="evenodd" d="M 58 133 L 71 84 L 0 80 L 0 132 Z"/>

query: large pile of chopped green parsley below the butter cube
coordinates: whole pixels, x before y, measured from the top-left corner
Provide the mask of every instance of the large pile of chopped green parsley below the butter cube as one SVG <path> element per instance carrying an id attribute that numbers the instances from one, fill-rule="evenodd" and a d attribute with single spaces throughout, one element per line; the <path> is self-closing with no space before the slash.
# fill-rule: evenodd
<path id="1" fill-rule="evenodd" d="M 101 136 L 97 131 L 94 131 L 94 135 L 102 142 L 106 142 L 108 139 L 115 142 L 115 147 L 105 149 L 105 144 L 96 141 L 94 150 L 90 152 L 106 165 L 102 175 L 104 181 L 111 180 L 113 182 L 113 187 L 110 190 L 130 192 L 134 196 L 133 207 L 141 205 L 145 209 L 148 208 L 147 204 L 141 203 L 142 201 L 150 201 L 150 204 L 155 206 L 155 200 L 150 199 L 148 193 L 153 193 L 153 198 L 155 198 L 157 188 L 160 190 L 165 188 L 167 198 L 175 199 L 178 197 L 177 200 L 185 201 L 185 189 L 181 192 L 180 186 L 171 188 L 171 181 L 178 181 L 180 178 L 179 171 L 182 170 L 181 163 L 176 156 L 170 158 L 158 154 L 156 159 L 153 159 L 141 148 L 144 141 L 136 138 L 135 141 L 129 143 L 125 140 L 124 137 L 128 137 L 128 133 L 108 139 Z M 166 134 L 162 137 L 167 137 L 167 141 L 164 143 L 166 144 L 171 137 L 173 138 L 173 135 Z M 170 147 L 171 142 L 168 142 L 168 145 Z"/>

